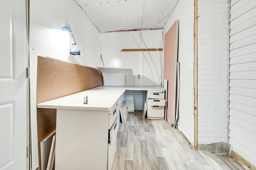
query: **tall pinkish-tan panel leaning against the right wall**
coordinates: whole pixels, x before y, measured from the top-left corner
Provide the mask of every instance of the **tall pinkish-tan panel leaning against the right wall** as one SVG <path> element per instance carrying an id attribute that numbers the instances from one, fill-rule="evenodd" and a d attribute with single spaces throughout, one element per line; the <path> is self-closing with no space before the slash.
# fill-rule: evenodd
<path id="1" fill-rule="evenodd" d="M 171 124 L 175 123 L 178 26 L 179 21 L 175 21 L 164 36 L 164 79 L 168 80 L 167 118 Z"/>

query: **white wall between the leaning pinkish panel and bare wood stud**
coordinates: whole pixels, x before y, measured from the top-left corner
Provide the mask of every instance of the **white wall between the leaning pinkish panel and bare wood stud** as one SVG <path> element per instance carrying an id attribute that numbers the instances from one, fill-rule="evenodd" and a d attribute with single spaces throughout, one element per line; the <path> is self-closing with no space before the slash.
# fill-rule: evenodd
<path id="1" fill-rule="evenodd" d="M 164 27 L 179 20 L 180 100 L 178 129 L 194 145 L 194 1 L 180 0 Z"/>

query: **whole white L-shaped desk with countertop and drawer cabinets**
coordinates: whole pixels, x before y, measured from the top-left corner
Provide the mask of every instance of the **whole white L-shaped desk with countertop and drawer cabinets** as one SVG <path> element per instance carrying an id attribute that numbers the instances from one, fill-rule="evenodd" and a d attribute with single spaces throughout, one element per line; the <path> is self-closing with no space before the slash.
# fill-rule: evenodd
<path id="1" fill-rule="evenodd" d="M 57 109 L 56 170 L 111 169 L 120 122 L 118 103 L 125 100 L 126 90 L 148 90 L 148 96 L 154 96 L 147 100 L 152 104 L 148 119 L 164 119 L 164 89 L 158 86 L 100 86 L 37 105 Z M 85 96 L 88 104 L 83 103 Z"/>

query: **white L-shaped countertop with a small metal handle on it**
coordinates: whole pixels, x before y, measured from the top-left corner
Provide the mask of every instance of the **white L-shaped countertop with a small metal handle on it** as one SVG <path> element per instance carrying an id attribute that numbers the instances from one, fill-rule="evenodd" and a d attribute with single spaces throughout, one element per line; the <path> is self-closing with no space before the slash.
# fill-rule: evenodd
<path id="1" fill-rule="evenodd" d="M 111 110 L 113 104 L 126 90 L 163 90 L 160 86 L 99 86 L 76 94 L 64 96 L 37 104 L 38 108 L 48 109 L 80 109 L 80 110 Z M 88 104 L 84 97 L 88 96 Z"/>

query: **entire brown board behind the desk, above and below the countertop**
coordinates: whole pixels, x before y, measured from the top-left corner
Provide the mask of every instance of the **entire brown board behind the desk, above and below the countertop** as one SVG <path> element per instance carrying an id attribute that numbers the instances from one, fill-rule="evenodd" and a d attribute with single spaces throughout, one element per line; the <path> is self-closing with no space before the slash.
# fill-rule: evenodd
<path id="1" fill-rule="evenodd" d="M 103 85 L 97 68 L 38 56 L 36 103 L 46 102 Z M 56 109 L 37 108 L 38 157 L 40 141 L 56 130 Z"/>

